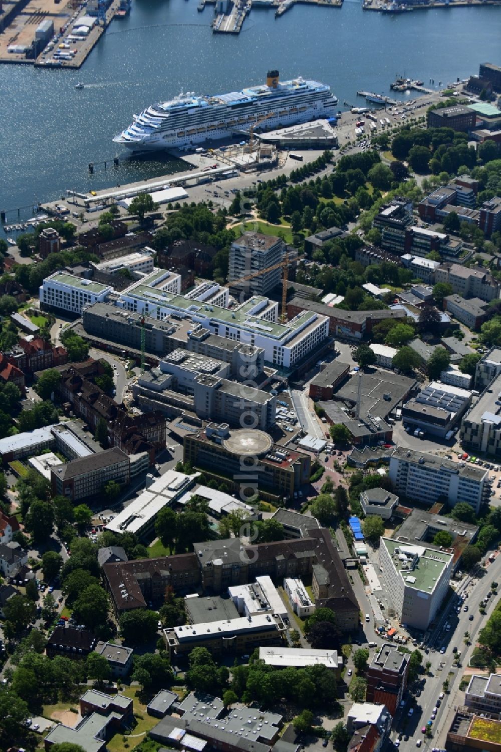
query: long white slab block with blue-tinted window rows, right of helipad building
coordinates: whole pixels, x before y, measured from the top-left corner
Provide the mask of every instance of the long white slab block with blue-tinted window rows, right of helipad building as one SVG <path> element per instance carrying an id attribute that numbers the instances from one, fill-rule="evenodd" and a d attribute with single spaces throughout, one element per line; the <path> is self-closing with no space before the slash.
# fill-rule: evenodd
<path id="1" fill-rule="evenodd" d="M 390 457 L 390 480 L 399 496 L 433 504 L 447 499 L 454 507 L 466 502 L 478 514 L 490 499 L 489 474 L 486 469 L 465 462 L 424 454 L 397 447 Z"/>

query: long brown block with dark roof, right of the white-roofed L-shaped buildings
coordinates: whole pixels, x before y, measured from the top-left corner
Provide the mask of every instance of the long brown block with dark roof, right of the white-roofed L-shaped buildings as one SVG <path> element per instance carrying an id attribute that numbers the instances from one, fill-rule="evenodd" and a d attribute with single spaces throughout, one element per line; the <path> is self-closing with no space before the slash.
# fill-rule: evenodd
<path id="1" fill-rule="evenodd" d="M 52 468 L 50 484 L 53 493 L 76 502 L 102 493 L 108 481 L 126 486 L 130 479 L 129 465 L 126 453 L 113 447 Z"/>

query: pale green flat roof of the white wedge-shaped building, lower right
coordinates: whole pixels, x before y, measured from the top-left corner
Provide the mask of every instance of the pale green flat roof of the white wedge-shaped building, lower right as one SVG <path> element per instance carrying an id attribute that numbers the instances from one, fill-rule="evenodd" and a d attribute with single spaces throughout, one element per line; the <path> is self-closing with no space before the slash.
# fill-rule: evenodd
<path id="1" fill-rule="evenodd" d="M 386 547 L 393 566 L 402 575 L 405 587 L 424 593 L 433 593 L 442 572 L 452 559 L 451 553 L 393 538 L 381 538 L 381 544 Z"/>

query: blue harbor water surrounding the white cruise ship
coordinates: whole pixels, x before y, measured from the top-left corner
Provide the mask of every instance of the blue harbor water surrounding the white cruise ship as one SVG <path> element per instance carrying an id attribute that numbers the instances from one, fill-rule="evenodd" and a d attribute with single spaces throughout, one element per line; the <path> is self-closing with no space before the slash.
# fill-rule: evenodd
<path id="1" fill-rule="evenodd" d="M 272 9 L 257 9 L 238 36 L 212 34 L 212 18 L 211 6 L 197 13 L 196 0 L 134 0 L 129 16 L 111 23 L 80 71 L 2 65 L 0 208 L 179 169 L 167 158 L 131 159 L 112 138 L 132 113 L 181 91 L 240 89 L 276 67 L 283 78 L 302 74 L 328 83 L 346 109 L 345 101 L 365 105 L 357 89 L 390 95 L 396 74 L 425 86 L 433 78 L 437 86 L 478 73 L 479 62 L 501 63 L 499 7 L 392 16 L 345 0 L 341 9 L 297 5 L 278 19 Z M 84 88 L 75 89 L 80 81 Z M 120 156 L 117 168 L 114 156 Z M 106 170 L 99 164 L 105 159 Z M 92 175 L 89 162 L 96 164 Z M 15 218 L 8 214 L 8 222 Z"/>

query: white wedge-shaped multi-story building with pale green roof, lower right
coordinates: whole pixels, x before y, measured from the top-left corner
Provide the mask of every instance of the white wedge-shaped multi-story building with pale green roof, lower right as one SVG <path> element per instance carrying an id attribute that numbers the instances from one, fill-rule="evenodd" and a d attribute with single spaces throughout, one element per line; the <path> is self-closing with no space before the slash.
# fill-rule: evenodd
<path id="1" fill-rule="evenodd" d="M 379 566 L 402 624 L 427 629 L 447 593 L 452 559 L 446 551 L 381 538 Z"/>

